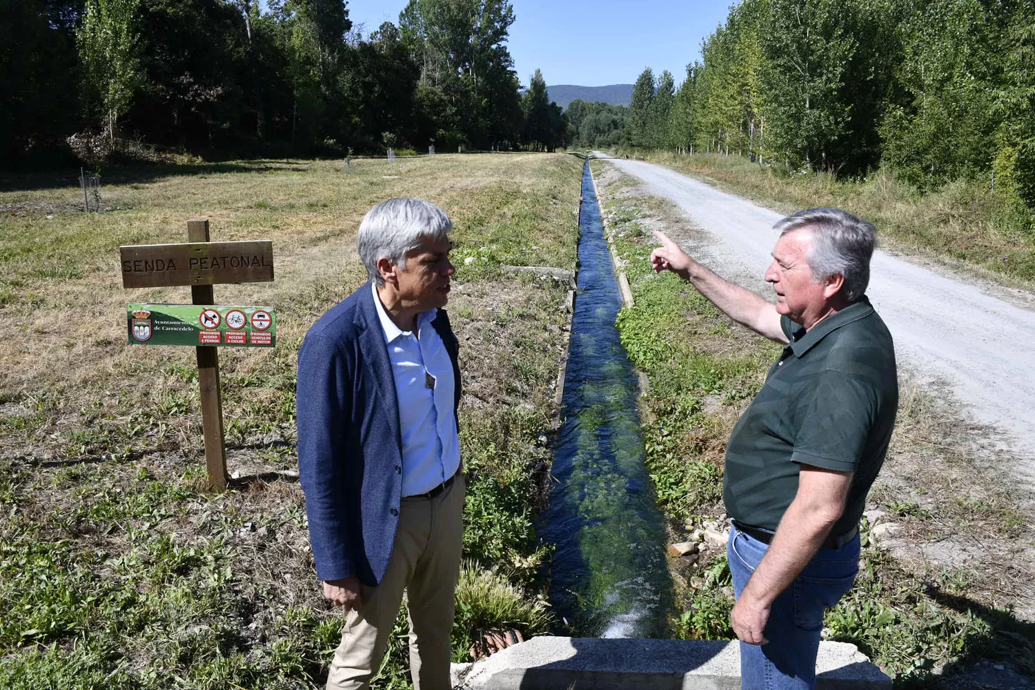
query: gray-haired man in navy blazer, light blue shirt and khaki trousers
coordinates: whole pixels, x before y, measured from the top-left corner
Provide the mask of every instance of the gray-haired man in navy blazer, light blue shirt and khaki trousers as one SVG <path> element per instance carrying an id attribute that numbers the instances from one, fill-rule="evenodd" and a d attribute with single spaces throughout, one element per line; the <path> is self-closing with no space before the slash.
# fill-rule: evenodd
<path id="1" fill-rule="evenodd" d="M 410 672 L 448 690 L 464 476 L 459 343 L 445 306 L 452 222 L 389 199 L 359 226 L 369 280 L 298 353 L 298 467 L 317 576 L 347 613 L 328 688 L 369 687 L 407 591 Z"/>

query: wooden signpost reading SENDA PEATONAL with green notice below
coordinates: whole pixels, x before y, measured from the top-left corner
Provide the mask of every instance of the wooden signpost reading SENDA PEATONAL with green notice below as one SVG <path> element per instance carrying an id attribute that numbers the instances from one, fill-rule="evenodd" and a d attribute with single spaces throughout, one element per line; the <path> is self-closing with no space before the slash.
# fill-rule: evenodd
<path id="1" fill-rule="evenodd" d="M 205 433 L 205 467 L 213 486 L 224 489 L 227 487 L 227 453 L 223 433 L 223 397 L 219 392 L 219 355 L 212 346 L 271 347 L 275 314 L 266 307 L 215 306 L 212 286 L 272 280 L 273 243 L 268 240 L 210 242 L 208 218 L 196 218 L 187 220 L 186 243 L 122 246 L 119 247 L 119 259 L 123 288 L 190 286 L 191 303 L 210 307 L 199 311 L 200 339 L 184 340 L 181 344 L 191 342 L 196 347 L 202 426 Z M 147 344 L 151 337 L 151 309 L 141 307 L 158 305 L 130 306 L 132 308 L 127 317 L 128 341 Z M 143 318 L 144 311 L 148 312 L 146 318 Z M 252 316 L 244 316 L 242 319 L 238 313 Z M 227 316 L 230 318 L 227 319 Z M 242 322 L 240 326 L 237 326 L 238 321 Z M 147 322 L 146 326 L 144 322 Z M 224 325 L 224 322 L 229 323 Z M 216 330 L 220 325 L 224 330 L 229 327 L 234 332 L 234 337 L 227 337 L 220 330 Z M 266 332 L 269 333 L 268 336 L 264 335 Z M 253 333 L 257 338 L 255 342 L 252 342 Z M 268 338 L 268 341 L 264 338 Z"/>

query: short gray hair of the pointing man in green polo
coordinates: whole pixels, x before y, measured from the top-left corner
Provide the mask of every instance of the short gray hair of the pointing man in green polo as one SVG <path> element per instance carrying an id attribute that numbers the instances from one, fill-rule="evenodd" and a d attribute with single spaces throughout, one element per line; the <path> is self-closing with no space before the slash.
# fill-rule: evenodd
<path id="1" fill-rule="evenodd" d="M 869 284 L 869 260 L 877 246 L 877 229 L 848 211 L 836 208 L 810 208 L 787 216 L 775 226 L 780 236 L 796 230 L 808 230 L 811 246 L 805 261 L 812 269 L 812 280 L 820 282 L 832 275 L 844 275 L 841 294 L 855 302 Z"/>

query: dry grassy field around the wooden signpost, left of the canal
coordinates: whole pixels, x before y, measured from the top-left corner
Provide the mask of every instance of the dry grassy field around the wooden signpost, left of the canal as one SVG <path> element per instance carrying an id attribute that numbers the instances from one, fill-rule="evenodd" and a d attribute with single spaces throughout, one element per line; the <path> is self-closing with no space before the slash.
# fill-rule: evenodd
<path id="1" fill-rule="evenodd" d="M 501 264 L 572 268 L 580 166 L 563 155 L 241 161 L 115 170 L 108 210 L 69 180 L 0 192 L 0 686 L 317 687 L 341 613 L 321 596 L 297 483 L 294 380 L 305 331 L 365 279 L 363 213 L 389 197 L 455 222 L 449 311 L 462 347 L 469 477 L 454 651 L 549 624 L 533 517 L 556 423 L 565 292 Z M 208 490 L 195 354 L 125 344 L 121 244 L 271 239 L 276 280 L 216 286 L 277 309 L 273 350 L 220 352 L 228 466 Z M 474 258 L 472 262 L 465 259 Z M 382 687 L 409 685 L 405 618 Z"/>

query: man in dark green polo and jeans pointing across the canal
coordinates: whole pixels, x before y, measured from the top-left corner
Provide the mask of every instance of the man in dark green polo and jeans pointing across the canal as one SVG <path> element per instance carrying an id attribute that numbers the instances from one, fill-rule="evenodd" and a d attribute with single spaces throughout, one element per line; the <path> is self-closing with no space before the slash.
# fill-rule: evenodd
<path id="1" fill-rule="evenodd" d="M 823 208 L 775 230 L 765 276 L 775 304 L 661 233 L 651 261 L 786 346 L 727 446 L 731 618 L 743 688 L 812 688 L 823 613 L 859 568 L 859 518 L 888 450 L 898 383 L 891 334 L 865 296 L 874 227 Z"/>

